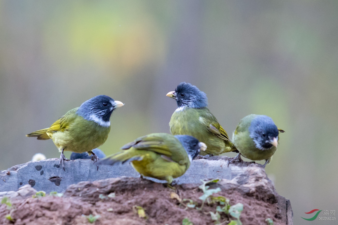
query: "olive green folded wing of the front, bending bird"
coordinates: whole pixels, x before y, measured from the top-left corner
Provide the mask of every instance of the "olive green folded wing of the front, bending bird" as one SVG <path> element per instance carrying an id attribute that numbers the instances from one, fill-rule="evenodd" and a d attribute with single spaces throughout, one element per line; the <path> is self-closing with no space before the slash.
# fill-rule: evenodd
<path id="1" fill-rule="evenodd" d="M 182 160 L 189 160 L 188 154 L 182 144 L 173 135 L 168 133 L 148 134 L 124 145 L 122 149 L 126 150 L 131 147 L 138 150 L 156 152 L 167 161 L 180 163 Z"/>

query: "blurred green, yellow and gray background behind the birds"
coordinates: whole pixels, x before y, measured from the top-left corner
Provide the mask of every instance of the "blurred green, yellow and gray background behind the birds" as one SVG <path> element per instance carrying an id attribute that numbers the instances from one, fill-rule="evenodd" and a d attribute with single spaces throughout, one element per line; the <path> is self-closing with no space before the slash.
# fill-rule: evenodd
<path id="1" fill-rule="evenodd" d="M 338 213 L 337 37 L 335 0 L 0 0 L 0 170 L 59 157 L 25 134 L 100 94 L 125 103 L 106 154 L 169 132 L 166 94 L 186 81 L 230 136 L 251 113 L 286 131 L 266 172 L 294 224 L 314 208 Z"/>

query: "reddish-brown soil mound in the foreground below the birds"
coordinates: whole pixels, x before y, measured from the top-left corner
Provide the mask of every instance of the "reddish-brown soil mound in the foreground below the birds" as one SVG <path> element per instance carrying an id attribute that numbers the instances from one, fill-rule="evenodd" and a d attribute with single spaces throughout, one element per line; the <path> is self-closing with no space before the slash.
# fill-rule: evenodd
<path id="1" fill-rule="evenodd" d="M 241 214 L 243 225 L 265 225 L 265 219 L 273 219 L 274 225 L 285 224 L 281 220 L 281 212 L 274 197 L 267 196 L 266 190 L 254 194 L 243 194 L 236 189 L 227 188 L 219 181 L 210 188 L 219 186 L 222 191 L 215 196 L 225 196 L 230 204 L 243 203 Z M 200 211 L 185 209 L 177 199 L 172 199 L 175 192 L 181 199 L 188 198 L 198 202 L 203 193 L 197 184 L 175 185 L 176 190 L 166 188 L 163 184 L 154 183 L 140 178 L 110 178 L 94 182 L 80 182 L 70 185 L 63 197 L 46 196 L 41 198 L 15 199 L 11 201 L 15 207 L 11 212 L 14 222 L 5 219 L 9 210 L 5 204 L 0 205 L 1 224 L 90 224 L 81 215 L 100 215 L 96 225 L 142 225 L 182 224 L 184 218 L 194 225 L 214 224 L 209 211 L 216 211 L 216 204 L 205 205 Z M 100 199 L 99 195 L 107 196 L 115 193 L 113 198 Z M 139 218 L 132 209 L 134 205 L 145 209 L 147 219 Z M 228 221 L 222 215 L 221 222 Z M 225 223 L 227 224 L 227 223 Z"/>

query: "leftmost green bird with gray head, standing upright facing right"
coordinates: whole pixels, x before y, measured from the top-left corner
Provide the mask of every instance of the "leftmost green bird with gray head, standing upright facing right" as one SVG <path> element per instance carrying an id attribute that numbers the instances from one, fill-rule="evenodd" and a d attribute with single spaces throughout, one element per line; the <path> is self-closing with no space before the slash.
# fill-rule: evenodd
<path id="1" fill-rule="evenodd" d="M 61 152 L 59 165 L 64 167 L 68 161 L 64 151 L 93 154 L 94 163 L 99 159 L 92 152 L 102 145 L 110 132 L 110 116 L 114 109 L 123 105 L 106 95 L 98 95 L 81 104 L 80 107 L 69 110 L 49 128 L 27 134 L 27 137 L 37 137 L 38 140 L 52 139 Z"/>

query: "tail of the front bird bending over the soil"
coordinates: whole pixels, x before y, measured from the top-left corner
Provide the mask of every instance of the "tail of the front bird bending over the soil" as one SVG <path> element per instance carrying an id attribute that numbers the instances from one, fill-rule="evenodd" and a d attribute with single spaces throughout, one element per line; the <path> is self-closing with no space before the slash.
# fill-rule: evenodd
<path id="1" fill-rule="evenodd" d="M 103 165 L 114 165 L 115 163 L 121 162 L 129 163 L 130 161 L 138 160 L 141 161 L 143 156 L 138 154 L 137 151 L 123 151 L 118 152 L 114 155 L 107 156 L 99 161 L 99 164 Z"/>

